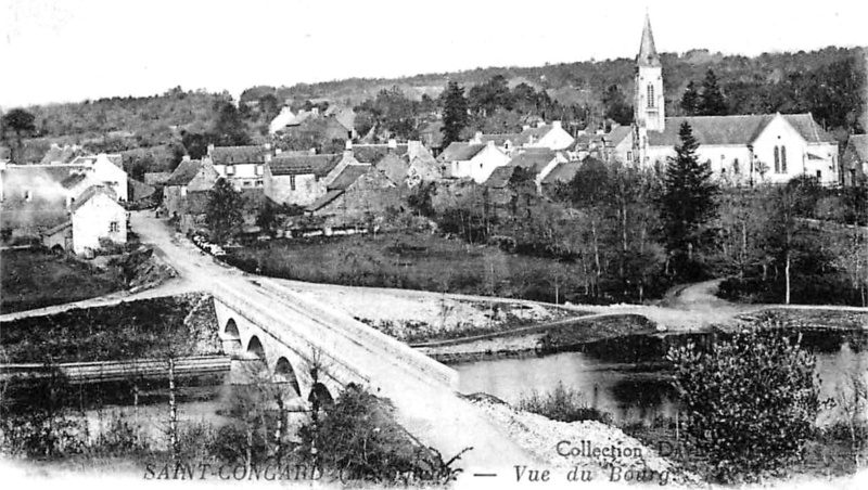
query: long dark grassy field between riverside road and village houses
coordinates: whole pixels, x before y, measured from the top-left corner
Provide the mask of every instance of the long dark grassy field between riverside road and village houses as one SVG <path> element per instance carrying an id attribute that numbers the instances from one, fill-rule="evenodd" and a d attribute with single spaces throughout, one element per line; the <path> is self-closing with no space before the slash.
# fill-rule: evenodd
<path id="1" fill-rule="evenodd" d="M 433 234 L 276 240 L 229 249 L 228 261 L 273 278 L 548 302 L 578 301 L 582 266 Z M 584 299 L 587 301 L 587 299 Z"/>

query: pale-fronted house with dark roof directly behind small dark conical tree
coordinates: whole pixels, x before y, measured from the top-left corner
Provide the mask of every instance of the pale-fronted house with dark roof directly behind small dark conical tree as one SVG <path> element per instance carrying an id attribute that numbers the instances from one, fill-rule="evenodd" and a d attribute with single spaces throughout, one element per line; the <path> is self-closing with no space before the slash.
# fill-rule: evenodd
<path id="1" fill-rule="evenodd" d="M 214 146 L 203 158 L 235 190 L 265 186 L 265 166 L 271 162 L 271 145 Z"/>

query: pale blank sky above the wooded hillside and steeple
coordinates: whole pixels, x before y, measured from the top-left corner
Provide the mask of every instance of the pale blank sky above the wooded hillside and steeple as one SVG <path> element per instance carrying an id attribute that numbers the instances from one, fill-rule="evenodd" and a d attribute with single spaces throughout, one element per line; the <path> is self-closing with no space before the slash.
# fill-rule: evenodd
<path id="1" fill-rule="evenodd" d="M 801 5 L 804 3 L 804 7 Z M 0 0 L 0 106 L 347 77 L 868 46 L 868 1 Z"/>

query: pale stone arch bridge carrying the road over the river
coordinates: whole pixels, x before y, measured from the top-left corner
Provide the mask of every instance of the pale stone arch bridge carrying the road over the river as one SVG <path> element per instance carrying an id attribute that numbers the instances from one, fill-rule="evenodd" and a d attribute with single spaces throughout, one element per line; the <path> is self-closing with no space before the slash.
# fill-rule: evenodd
<path id="1" fill-rule="evenodd" d="M 289 398 L 330 399 L 349 383 L 393 399 L 419 385 L 457 387 L 454 370 L 271 280 L 215 284 L 212 293 L 225 352 L 284 384 Z"/>

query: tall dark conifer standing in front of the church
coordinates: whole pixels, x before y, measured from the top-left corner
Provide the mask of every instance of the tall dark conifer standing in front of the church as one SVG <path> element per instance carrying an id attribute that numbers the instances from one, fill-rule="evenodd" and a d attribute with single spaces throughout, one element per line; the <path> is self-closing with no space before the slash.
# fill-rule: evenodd
<path id="1" fill-rule="evenodd" d="M 712 181 L 711 167 L 699 163 L 699 141 L 687 121 L 678 136 L 680 144 L 675 147 L 676 156 L 668 159 L 659 205 L 666 249 L 681 263 L 681 259 L 692 261 L 700 227 L 717 215 L 718 188 Z"/>

